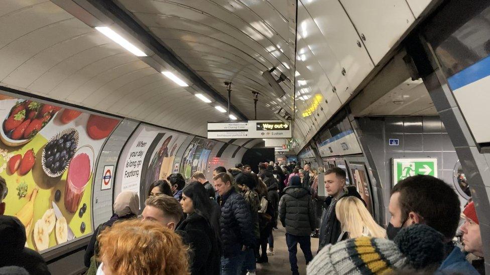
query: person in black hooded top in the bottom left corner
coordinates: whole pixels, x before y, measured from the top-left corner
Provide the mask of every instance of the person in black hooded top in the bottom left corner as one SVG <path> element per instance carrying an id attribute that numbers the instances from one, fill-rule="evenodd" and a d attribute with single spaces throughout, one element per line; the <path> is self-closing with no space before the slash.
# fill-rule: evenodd
<path id="1" fill-rule="evenodd" d="M 0 267 L 21 266 L 30 274 L 51 274 L 41 254 L 25 247 L 26 228 L 13 216 L 0 215 Z"/>

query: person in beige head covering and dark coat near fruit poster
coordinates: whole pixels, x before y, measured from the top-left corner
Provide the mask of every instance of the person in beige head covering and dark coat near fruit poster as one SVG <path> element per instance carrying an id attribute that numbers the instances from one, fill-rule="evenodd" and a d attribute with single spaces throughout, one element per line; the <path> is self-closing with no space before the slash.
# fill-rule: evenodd
<path id="1" fill-rule="evenodd" d="M 102 224 L 100 224 L 92 234 L 90 241 L 85 249 L 84 263 L 85 266 L 89 267 L 91 274 L 97 268 L 98 262 L 96 261 L 97 256 L 97 236 L 104 228 L 112 226 L 115 222 L 122 220 L 136 218 L 138 210 L 140 209 L 140 197 L 136 192 L 133 191 L 122 191 L 120 192 L 114 201 L 114 214 L 110 219 Z"/>

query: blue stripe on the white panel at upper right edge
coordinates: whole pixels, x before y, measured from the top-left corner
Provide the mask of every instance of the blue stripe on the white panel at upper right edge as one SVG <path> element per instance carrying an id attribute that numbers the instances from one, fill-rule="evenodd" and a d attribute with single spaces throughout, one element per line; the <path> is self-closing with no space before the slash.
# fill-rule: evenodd
<path id="1" fill-rule="evenodd" d="M 451 90 L 457 90 L 463 86 L 480 80 L 490 75 L 490 56 L 476 62 L 468 68 L 456 73 L 447 79 Z"/>

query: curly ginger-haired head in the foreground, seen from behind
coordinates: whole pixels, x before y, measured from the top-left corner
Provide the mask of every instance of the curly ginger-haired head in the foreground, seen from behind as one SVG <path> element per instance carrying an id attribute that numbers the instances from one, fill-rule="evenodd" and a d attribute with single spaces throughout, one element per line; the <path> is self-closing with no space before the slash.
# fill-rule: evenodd
<path id="1" fill-rule="evenodd" d="M 117 222 L 100 233 L 99 245 L 96 275 L 190 274 L 182 238 L 154 221 Z"/>

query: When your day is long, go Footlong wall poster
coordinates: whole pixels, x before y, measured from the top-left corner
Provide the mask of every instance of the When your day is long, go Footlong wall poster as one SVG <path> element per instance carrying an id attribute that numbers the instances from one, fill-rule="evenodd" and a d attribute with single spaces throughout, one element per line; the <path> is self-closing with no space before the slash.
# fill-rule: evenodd
<path id="1" fill-rule="evenodd" d="M 116 193 L 140 194 L 155 180 L 166 179 L 174 169 L 174 158 L 186 135 L 141 124 L 122 149 L 116 171 Z M 120 188 L 120 189 L 119 189 Z M 145 202 L 140 194 L 140 202 Z"/>

